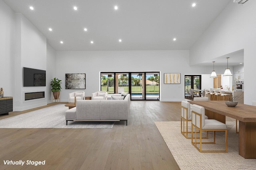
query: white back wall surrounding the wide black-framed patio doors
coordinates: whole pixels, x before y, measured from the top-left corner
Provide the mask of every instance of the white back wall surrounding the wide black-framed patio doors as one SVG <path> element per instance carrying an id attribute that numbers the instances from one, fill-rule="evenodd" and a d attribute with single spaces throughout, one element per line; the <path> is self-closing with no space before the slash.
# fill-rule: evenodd
<path id="1" fill-rule="evenodd" d="M 56 51 L 56 78 L 62 80 L 61 101 L 68 101 L 66 73 L 85 73 L 85 95 L 100 89 L 100 72 L 160 71 L 160 100 L 184 99 L 184 74 L 208 74 L 203 66 L 189 66 L 188 50 L 166 51 Z M 181 84 L 164 84 L 164 73 L 181 73 Z"/>

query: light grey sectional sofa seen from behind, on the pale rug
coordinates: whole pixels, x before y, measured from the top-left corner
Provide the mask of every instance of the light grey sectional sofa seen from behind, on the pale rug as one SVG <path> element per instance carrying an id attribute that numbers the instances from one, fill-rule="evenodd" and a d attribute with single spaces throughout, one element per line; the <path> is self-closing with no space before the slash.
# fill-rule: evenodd
<path id="1" fill-rule="evenodd" d="M 76 107 L 66 114 L 68 121 L 120 121 L 125 120 L 127 126 L 130 113 L 130 94 L 123 100 L 78 100 Z"/>

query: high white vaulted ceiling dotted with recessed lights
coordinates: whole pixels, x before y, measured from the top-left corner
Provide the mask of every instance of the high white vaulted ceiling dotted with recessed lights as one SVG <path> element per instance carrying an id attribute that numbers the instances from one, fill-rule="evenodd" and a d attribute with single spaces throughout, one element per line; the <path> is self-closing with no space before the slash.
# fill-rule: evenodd
<path id="1" fill-rule="evenodd" d="M 189 50 L 232 1 L 4 0 L 34 24 L 58 51 Z"/>

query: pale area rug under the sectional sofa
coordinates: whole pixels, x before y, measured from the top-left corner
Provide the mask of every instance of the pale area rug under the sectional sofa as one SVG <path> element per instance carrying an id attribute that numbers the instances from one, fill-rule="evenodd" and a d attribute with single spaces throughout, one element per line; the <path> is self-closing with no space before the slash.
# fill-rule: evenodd
<path id="1" fill-rule="evenodd" d="M 0 128 L 112 128 L 114 122 L 72 122 L 66 126 L 64 104 L 0 120 Z M 11 113 L 10 113 L 11 114 Z"/>

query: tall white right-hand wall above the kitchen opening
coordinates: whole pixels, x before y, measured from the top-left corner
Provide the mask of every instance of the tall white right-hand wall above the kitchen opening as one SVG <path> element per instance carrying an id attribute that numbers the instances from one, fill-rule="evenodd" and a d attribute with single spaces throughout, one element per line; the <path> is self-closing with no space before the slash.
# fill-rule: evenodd
<path id="1" fill-rule="evenodd" d="M 251 95 L 256 83 L 251 71 L 256 63 L 255 8 L 254 0 L 244 6 L 230 1 L 190 49 L 190 65 L 196 64 L 197 60 L 206 61 L 244 49 L 244 104 L 252 104 L 252 100 L 256 100 L 256 96 Z"/>

